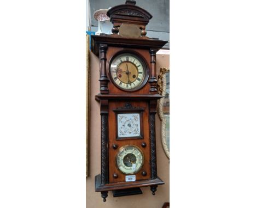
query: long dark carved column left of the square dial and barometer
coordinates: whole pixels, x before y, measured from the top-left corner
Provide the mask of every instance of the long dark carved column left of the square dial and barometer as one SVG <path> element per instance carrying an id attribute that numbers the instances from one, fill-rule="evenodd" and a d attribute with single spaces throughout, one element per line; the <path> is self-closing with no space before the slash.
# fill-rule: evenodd
<path id="1" fill-rule="evenodd" d="M 101 184 L 108 183 L 108 101 L 101 101 Z"/>

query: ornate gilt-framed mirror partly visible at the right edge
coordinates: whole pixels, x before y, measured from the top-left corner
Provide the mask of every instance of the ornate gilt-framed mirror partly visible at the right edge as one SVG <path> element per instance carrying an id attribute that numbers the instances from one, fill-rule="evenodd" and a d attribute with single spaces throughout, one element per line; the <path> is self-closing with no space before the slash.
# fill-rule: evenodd
<path id="1" fill-rule="evenodd" d="M 170 148 L 169 148 L 169 131 L 170 131 L 170 99 L 169 94 L 166 92 L 167 89 L 167 79 L 166 74 L 170 75 L 170 69 L 161 68 L 160 74 L 158 76 L 158 93 L 164 97 L 162 97 L 158 101 L 158 115 L 161 120 L 161 142 L 162 148 L 164 149 L 165 155 L 170 159 Z"/>

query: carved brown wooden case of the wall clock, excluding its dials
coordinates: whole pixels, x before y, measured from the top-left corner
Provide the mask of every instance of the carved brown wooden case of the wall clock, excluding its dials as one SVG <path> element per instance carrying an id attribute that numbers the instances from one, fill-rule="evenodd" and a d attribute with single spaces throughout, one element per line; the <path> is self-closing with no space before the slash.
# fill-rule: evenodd
<path id="1" fill-rule="evenodd" d="M 113 191 L 114 197 L 118 197 L 140 194 L 142 192 L 139 187 L 150 186 L 155 195 L 156 187 L 164 184 L 156 169 L 155 114 L 157 101 L 162 97 L 156 89 L 156 52 L 167 41 L 145 36 L 144 26 L 152 16 L 135 3 L 126 1 L 126 4 L 108 10 L 114 34 L 91 36 L 91 50 L 100 58 L 100 94 L 96 95 L 95 99 L 100 102 L 101 108 L 101 174 L 95 176 L 95 191 L 101 192 L 103 201 L 106 201 L 108 191 Z M 142 17 L 139 19 L 134 16 L 135 13 Z M 139 25 L 139 37 L 131 38 L 117 34 L 122 23 Z M 109 73 L 113 58 L 127 52 L 136 54 L 147 68 L 144 82 L 133 90 L 119 89 Z M 117 137 L 117 113 L 120 112 L 141 115 L 141 137 Z M 117 152 L 124 145 L 136 145 L 143 152 L 143 166 L 134 174 L 136 181 L 125 182 L 125 174 L 121 173 L 115 164 Z"/>

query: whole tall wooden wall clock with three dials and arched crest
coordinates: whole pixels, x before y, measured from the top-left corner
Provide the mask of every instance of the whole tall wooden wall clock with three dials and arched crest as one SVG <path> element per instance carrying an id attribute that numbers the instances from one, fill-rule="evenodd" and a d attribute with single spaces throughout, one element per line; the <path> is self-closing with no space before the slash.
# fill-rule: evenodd
<path id="1" fill-rule="evenodd" d="M 155 114 L 162 97 L 156 88 L 156 52 L 167 41 L 146 36 L 152 18 L 148 11 L 127 0 L 108 10 L 110 35 L 92 35 L 92 52 L 100 58 L 101 173 L 95 191 L 106 201 L 114 197 L 153 195 L 164 184 L 157 173 Z M 94 70 L 94 69 L 91 69 Z"/>

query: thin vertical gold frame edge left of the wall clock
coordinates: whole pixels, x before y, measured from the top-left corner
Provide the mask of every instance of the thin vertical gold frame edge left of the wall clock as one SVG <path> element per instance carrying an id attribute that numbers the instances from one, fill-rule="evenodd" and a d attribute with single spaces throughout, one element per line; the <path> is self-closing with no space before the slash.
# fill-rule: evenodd
<path id="1" fill-rule="evenodd" d="M 85 140 L 86 140 L 86 177 L 90 176 L 90 35 L 86 34 L 86 77 L 85 77 L 85 90 L 86 90 L 86 127 L 85 127 Z"/>

